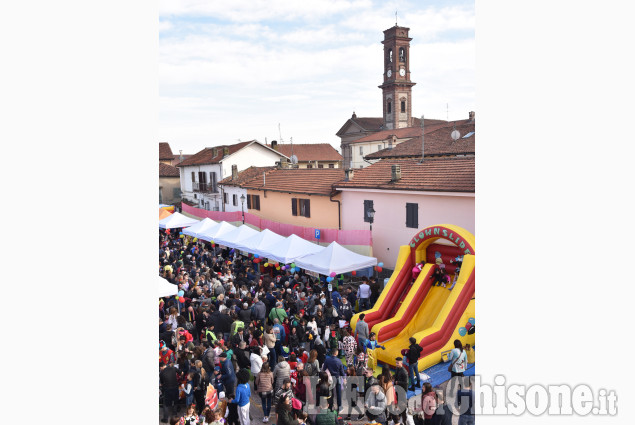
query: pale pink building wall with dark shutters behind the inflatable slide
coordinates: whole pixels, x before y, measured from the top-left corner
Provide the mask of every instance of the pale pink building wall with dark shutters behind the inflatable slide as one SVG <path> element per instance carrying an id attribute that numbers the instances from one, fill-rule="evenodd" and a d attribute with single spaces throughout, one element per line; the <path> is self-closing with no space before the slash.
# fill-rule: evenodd
<path id="1" fill-rule="evenodd" d="M 399 247 L 406 245 L 422 228 L 434 224 L 454 224 L 474 234 L 474 194 L 434 195 L 417 192 L 342 190 L 342 229 L 369 229 L 365 222 L 364 200 L 372 200 L 373 256 L 387 268 L 394 268 Z M 406 203 L 419 204 L 418 229 L 406 227 Z"/>

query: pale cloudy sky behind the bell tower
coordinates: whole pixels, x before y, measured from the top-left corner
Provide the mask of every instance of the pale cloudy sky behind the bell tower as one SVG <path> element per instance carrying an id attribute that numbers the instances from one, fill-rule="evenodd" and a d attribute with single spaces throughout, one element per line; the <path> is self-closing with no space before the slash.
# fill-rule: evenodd
<path id="1" fill-rule="evenodd" d="M 330 143 L 381 117 L 383 31 L 410 28 L 413 116 L 475 110 L 473 1 L 161 0 L 159 141 Z"/>

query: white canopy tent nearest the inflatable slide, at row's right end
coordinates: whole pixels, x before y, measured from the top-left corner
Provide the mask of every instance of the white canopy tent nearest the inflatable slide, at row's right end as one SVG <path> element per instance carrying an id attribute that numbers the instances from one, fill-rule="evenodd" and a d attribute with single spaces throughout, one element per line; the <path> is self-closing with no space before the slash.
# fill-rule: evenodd
<path id="1" fill-rule="evenodd" d="M 295 260 L 295 265 L 301 269 L 328 276 L 332 272 L 340 274 L 375 266 L 377 259 L 357 254 L 337 242 L 331 242 L 329 246 L 316 254 L 298 258 Z"/>

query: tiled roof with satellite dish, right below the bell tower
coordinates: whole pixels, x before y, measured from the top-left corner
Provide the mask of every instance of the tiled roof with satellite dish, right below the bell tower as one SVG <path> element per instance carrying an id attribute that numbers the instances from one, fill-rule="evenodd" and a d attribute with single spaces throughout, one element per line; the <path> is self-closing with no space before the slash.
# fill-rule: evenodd
<path id="1" fill-rule="evenodd" d="M 445 126 L 438 130 L 426 132 L 424 138 L 426 155 L 474 155 L 475 152 L 475 123 L 457 124 L 460 133 L 457 140 L 452 140 L 454 126 Z M 464 137 L 472 133 L 469 137 Z M 421 156 L 421 135 L 405 140 L 392 149 L 382 149 L 365 156 L 366 159 L 407 158 Z"/>

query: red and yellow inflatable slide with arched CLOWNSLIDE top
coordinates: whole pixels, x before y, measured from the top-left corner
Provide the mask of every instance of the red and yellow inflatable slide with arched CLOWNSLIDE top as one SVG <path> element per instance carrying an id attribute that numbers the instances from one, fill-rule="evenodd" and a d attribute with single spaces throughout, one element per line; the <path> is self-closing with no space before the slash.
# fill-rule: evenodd
<path id="1" fill-rule="evenodd" d="M 461 267 L 454 286 L 434 286 L 434 271 L 443 267 L 454 276 L 457 261 Z M 413 282 L 412 269 L 421 262 L 425 266 Z M 410 337 L 423 348 L 419 370 L 443 361 L 455 339 L 473 345 L 474 236 L 447 224 L 421 230 L 409 245 L 401 247 L 388 284 L 375 306 L 364 313 L 369 328 L 386 347 L 377 350 L 378 361 L 384 364 L 394 366 L 401 350 L 410 345 Z M 358 317 L 351 320 L 353 329 Z"/>

